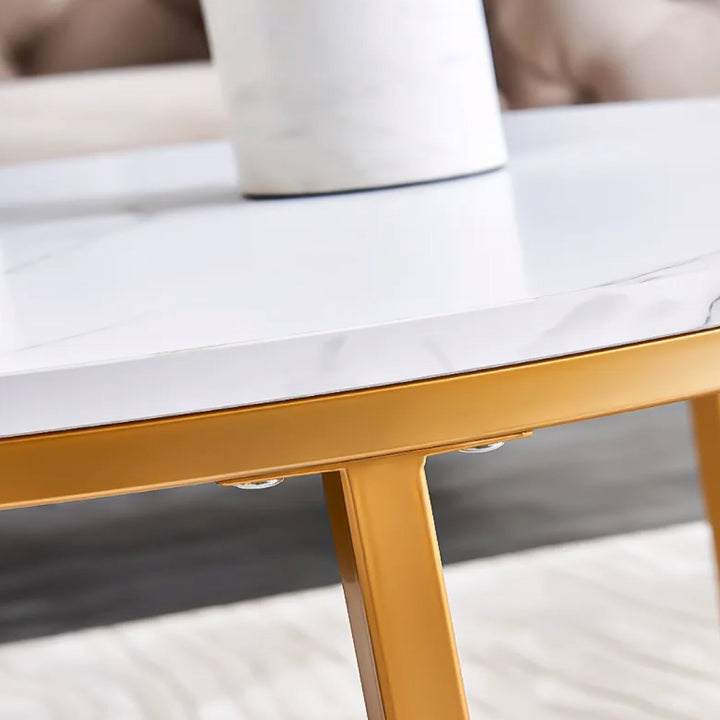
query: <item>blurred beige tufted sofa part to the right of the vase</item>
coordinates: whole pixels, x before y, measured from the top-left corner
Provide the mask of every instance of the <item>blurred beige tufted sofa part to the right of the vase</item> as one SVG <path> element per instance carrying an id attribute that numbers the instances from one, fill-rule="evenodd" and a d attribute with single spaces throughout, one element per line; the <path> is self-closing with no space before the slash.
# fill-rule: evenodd
<path id="1" fill-rule="evenodd" d="M 720 0 L 488 0 L 510 107 L 720 94 Z"/>

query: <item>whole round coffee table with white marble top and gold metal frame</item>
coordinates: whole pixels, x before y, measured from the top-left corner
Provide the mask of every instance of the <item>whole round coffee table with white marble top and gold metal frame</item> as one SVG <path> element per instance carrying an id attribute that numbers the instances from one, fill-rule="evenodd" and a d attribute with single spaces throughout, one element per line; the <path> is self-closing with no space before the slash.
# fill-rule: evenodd
<path id="1" fill-rule="evenodd" d="M 297 200 L 225 143 L 0 168 L 0 507 L 322 472 L 371 720 L 467 717 L 428 455 L 692 399 L 720 528 L 720 100 L 506 124 Z"/>

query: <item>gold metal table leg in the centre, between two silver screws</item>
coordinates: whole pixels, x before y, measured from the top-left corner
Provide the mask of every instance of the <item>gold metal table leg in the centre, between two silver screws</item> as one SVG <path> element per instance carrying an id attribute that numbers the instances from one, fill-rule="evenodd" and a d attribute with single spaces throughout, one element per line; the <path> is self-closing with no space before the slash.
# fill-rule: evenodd
<path id="1" fill-rule="evenodd" d="M 424 464 L 323 475 L 370 720 L 468 718 Z"/>

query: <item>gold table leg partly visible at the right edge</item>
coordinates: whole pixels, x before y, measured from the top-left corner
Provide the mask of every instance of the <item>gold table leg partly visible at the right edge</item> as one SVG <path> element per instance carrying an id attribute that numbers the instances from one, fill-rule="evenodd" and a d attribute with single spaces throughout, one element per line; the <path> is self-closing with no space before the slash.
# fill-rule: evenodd
<path id="1" fill-rule="evenodd" d="M 695 398 L 692 409 L 705 512 L 715 539 L 715 558 L 720 561 L 720 394 Z"/>

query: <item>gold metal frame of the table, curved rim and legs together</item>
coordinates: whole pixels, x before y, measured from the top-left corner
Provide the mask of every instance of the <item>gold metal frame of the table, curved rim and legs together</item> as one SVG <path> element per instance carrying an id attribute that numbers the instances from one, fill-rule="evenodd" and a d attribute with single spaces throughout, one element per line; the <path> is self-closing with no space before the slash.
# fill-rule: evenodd
<path id="1" fill-rule="evenodd" d="M 720 551 L 720 330 L 305 400 L 0 440 L 0 508 L 322 472 L 370 720 L 467 720 L 423 465 L 693 399 Z"/>

